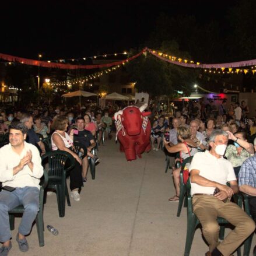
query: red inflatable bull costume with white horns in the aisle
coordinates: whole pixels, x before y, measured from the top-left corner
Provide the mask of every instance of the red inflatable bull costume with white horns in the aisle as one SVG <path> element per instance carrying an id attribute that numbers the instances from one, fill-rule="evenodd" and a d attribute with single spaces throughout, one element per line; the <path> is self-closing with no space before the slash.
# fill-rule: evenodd
<path id="1" fill-rule="evenodd" d="M 117 138 L 120 142 L 120 151 L 125 153 L 127 161 L 141 158 L 143 152 L 149 152 L 151 125 L 148 115 L 143 112 L 148 104 L 141 107 L 129 106 L 114 114 Z"/>

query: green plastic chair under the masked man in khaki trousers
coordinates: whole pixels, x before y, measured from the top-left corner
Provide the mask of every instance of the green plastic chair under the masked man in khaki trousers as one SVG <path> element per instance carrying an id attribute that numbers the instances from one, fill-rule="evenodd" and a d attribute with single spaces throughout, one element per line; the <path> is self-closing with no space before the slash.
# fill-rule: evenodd
<path id="1" fill-rule="evenodd" d="M 194 239 L 194 234 L 197 226 L 200 224 L 197 216 L 193 212 L 193 206 L 192 206 L 192 197 L 191 197 L 191 183 L 190 183 L 190 178 L 188 178 L 187 184 L 186 184 L 186 189 L 187 189 L 187 237 L 186 237 L 186 243 L 185 243 L 185 252 L 184 256 L 189 256 L 190 255 L 190 250 L 192 246 L 192 241 Z M 241 207 L 241 197 L 239 195 L 235 199 L 236 202 L 238 202 L 239 206 Z M 227 222 L 226 219 L 218 217 L 217 219 L 219 225 L 220 225 L 220 233 L 219 233 L 219 239 L 223 240 L 224 235 L 225 235 L 225 226 L 227 224 L 230 224 Z M 241 248 L 237 248 L 237 256 L 241 256 Z"/>

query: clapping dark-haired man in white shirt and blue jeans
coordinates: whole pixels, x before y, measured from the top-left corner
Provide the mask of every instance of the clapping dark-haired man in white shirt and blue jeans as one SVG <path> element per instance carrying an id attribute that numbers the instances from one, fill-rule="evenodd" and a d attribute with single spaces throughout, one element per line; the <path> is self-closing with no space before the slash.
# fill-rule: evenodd
<path id="1" fill-rule="evenodd" d="M 21 204 L 25 209 L 16 236 L 20 251 L 29 250 L 25 236 L 30 233 L 38 212 L 43 167 L 36 146 L 25 142 L 26 132 L 26 126 L 20 122 L 10 125 L 10 143 L 0 149 L 0 241 L 3 243 L 0 255 L 5 256 L 12 248 L 8 211 Z M 15 190 L 6 191 L 5 186 Z"/>

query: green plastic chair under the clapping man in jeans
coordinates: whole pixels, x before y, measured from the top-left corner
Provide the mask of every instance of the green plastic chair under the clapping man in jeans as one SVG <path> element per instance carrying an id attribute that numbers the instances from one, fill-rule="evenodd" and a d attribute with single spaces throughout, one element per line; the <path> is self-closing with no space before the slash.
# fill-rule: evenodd
<path id="1" fill-rule="evenodd" d="M 48 183 L 48 173 L 44 169 L 44 176 L 41 178 L 40 182 L 40 191 L 39 191 L 39 211 L 36 216 L 36 226 L 37 226 L 37 235 L 39 240 L 39 246 L 44 246 L 44 189 Z M 16 208 L 9 211 L 9 222 L 10 222 L 10 230 L 14 229 L 14 220 L 15 215 L 22 214 L 24 212 L 23 205 L 19 205 Z"/>

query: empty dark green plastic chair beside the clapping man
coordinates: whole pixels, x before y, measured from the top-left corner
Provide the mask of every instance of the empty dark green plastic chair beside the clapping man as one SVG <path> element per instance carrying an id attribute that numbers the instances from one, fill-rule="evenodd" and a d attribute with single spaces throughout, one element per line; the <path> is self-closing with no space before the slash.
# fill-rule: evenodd
<path id="1" fill-rule="evenodd" d="M 48 186 L 56 191 L 59 217 L 65 216 L 65 199 L 68 206 L 71 206 L 68 187 L 66 185 L 66 175 L 75 166 L 74 157 L 65 151 L 54 150 L 41 156 L 42 165 L 48 164 Z"/>

